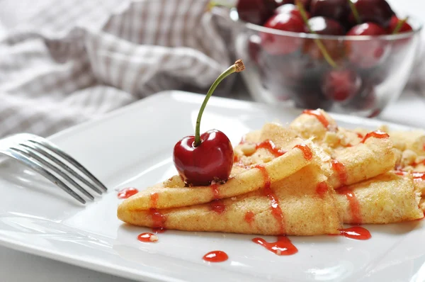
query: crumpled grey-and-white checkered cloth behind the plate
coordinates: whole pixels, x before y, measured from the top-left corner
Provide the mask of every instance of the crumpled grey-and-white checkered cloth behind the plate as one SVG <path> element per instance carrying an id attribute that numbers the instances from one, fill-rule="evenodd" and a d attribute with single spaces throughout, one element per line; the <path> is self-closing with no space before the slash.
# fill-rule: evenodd
<path id="1" fill-rule="evenodd" d="M 207 6 L 52 1 L 0 42 L 0 137 L 51 135 L 167 89 L 205 92 L 234 60 Z"/>

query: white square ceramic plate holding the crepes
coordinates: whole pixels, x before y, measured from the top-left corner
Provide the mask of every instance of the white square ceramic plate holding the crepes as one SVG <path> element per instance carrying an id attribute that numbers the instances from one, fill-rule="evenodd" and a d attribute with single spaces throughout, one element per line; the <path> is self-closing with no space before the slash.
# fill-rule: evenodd
<path id="1" fill-rule="evenodd" d="M 137 235 L 147 229 L 122 225 L 116 218 L 115 188 L 144 188 L 175 174 L 172 148 L 193 134 L 202 100 L 178 91 L 157 94 L 52 136 L 110 188 L 86 207 L 16 164 L 1 164 L 0 244 L 140 281 L 425 280 L 423 221 L 369 225 L 373 237 L 367 241 L 290 237 L 299 249 L 293 256 L 276 256 L 252 243 L 250 235 L 168 230 L 155 244 L 138 242 Z M 299 113 L 212 97 L 201 130 L 218 128 L 237 143 L 267 121 L 289 122 Z M 380 124 L 334 117 L 347 128 Z M 219 264 L 202 260 L 215 249 L 229 259 Z"/>

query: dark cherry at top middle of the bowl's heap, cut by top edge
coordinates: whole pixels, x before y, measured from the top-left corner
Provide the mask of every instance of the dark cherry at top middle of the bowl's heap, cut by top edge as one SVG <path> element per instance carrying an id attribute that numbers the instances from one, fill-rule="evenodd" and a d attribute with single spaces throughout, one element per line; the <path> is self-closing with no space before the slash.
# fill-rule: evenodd
<path id="1" fill-rule="evenodd" d="M 312 16 L 324 16 L 336 21 L 343 21 L 349 12 L 347 0 L 312 0 L 310 4 Z"/>

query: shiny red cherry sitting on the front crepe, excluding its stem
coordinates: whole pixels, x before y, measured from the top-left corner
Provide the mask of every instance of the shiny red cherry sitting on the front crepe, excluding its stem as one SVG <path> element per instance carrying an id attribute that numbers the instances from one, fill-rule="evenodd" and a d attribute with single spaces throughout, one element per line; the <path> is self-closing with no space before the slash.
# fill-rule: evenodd
<path id="1" fill-rule="evenodd" d="M 186 136 L 174 146 L 174 164 L 183 180 L 194 186 L 206 186 L 211 181 L 225 181 L 233 165 L 233 147 L 225 133 L 209 130 L 200 135 Z"/>

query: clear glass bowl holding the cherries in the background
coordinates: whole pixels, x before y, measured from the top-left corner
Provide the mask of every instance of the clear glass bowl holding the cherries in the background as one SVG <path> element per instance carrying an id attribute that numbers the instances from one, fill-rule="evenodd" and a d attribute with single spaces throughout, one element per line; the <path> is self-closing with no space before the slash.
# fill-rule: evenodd
<path id="1" fill-rule="evenodd" d="M 402 93 L 418 55 L 422 28 L 409 17 L 409 33 L 314 35 L 246 23 L 236 9 L 230 10 L 230 18 L 237 26 L 235 54 L 244 60 L 242 76 L 254 100 L 365 117 L 379 115 Z"/>

